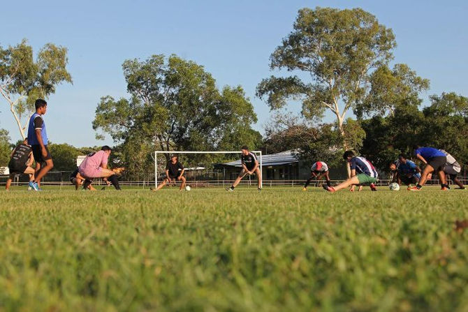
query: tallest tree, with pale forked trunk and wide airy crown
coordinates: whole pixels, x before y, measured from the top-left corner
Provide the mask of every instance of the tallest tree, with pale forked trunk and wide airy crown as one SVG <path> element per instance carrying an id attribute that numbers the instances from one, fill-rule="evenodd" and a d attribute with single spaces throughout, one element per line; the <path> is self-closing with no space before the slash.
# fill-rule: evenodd
<path id="1" fill-rule="evenodd" d="M 258 84 L 256 94 L 272 110 L 288 100 L 301 101 L 308 119 L 321 119 L 329 110 L 348 149 L 346 113 L 364 101 L 370 73 L 388 64 L 395 45 L 391 29 L 360 8 L 303 8 L 291 34 L 272 53 L 270 68 L 299 71 L 312 80 L 271 76 Z"/>

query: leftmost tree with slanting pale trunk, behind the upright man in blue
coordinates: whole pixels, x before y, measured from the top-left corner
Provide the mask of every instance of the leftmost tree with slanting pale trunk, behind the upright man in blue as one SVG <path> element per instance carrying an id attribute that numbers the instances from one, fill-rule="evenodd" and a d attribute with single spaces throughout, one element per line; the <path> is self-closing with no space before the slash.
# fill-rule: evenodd
<path id="1" fill-rule="evenodd" d="M 47 43 L 35 61 L 27 40 L 14 47 L 0 47 L 0 94 L 10 105 L 22 138 L 26 138 L 27 127 L 22 126 L 22 115 L 34 111 L 36 98 L 47 98 L 55 93 L 57 84 L 72 82 L 66 54 L 66 47 Z"/>

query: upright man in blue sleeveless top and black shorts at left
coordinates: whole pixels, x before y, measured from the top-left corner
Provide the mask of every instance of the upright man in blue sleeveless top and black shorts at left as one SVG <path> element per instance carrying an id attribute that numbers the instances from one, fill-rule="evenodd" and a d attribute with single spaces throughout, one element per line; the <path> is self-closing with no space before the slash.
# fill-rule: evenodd
<path id="1" fill-rule="evenodd" d="M 29 144 L 33 151 L 34 160 L 36 161 L 35 179 L 29 182 L 29 186 L 34 191 L 39 191 L 41 187 L 41 179 L 54 168 L 52 156 L 49 149 L 47 149 L 47 131 L 45 131 L 45 122 L 43 115 L 47 111 L 47 102 L 38 98 L 36 103 L 36 112 L 29 119 L 28 138 Z"/>

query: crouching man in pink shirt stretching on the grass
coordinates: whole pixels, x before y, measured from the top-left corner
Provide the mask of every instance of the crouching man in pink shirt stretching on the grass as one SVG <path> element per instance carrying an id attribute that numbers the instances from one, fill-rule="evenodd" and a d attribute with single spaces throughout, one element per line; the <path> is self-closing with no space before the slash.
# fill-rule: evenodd
<path id="1" fill-rule="evenodd" d="M 84 189 L 92 183 L 92 179 L 103 178 L 104 181 L 110 181 L 115 189 L 120 190 L 117 175 L 108 169 L 108 158 L 111 151 L 110 147 L 104 145 L 101 151 L 96 151 L 86 156 L 80 167 L 78 167 L 78 172 L 86 179 L 83 184 Z"/>

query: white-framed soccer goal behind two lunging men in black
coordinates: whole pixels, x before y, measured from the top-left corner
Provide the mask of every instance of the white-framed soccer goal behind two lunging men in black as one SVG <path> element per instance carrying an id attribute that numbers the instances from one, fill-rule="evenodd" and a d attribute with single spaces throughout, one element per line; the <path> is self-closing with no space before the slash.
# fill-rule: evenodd
<path id="1" fill-rule="evenodd" d="M 251 151 L 258 159 L 258 167 L 263 176 L 262 152 Z M 221 176 L 223 181 L 232 180 L 242 168 L 240 164 L 240 151 L 154 151 L 154 186 L 158 186 L 158 181 L 162 181 L 165 173 L 166 163 L 170 154 L 177 154 L 179 161 L 184 165 L 187 182 L 193 183 L 194 177 L 210 177 L 206 181 L 214 181 Z M 237 154 L 237 156 L 235 156 Z M 216 169 L 217 168 L 217 169 Z M 229 176 L 226 177 L 226 171 Z M 201 174 L 205 172 L 204 174 Z M 161 176 L 159 176 L 161 174 Z M 198 178 L 200 180 L 200 178 Z M 203 178 L 201 180 L 204 180 Z M 198 183 L 198 181 L 196 181 Z M 198 184 L 197 184 L 198 185 Z M 263 179 L 262 179 L 263 186 Z"/>

